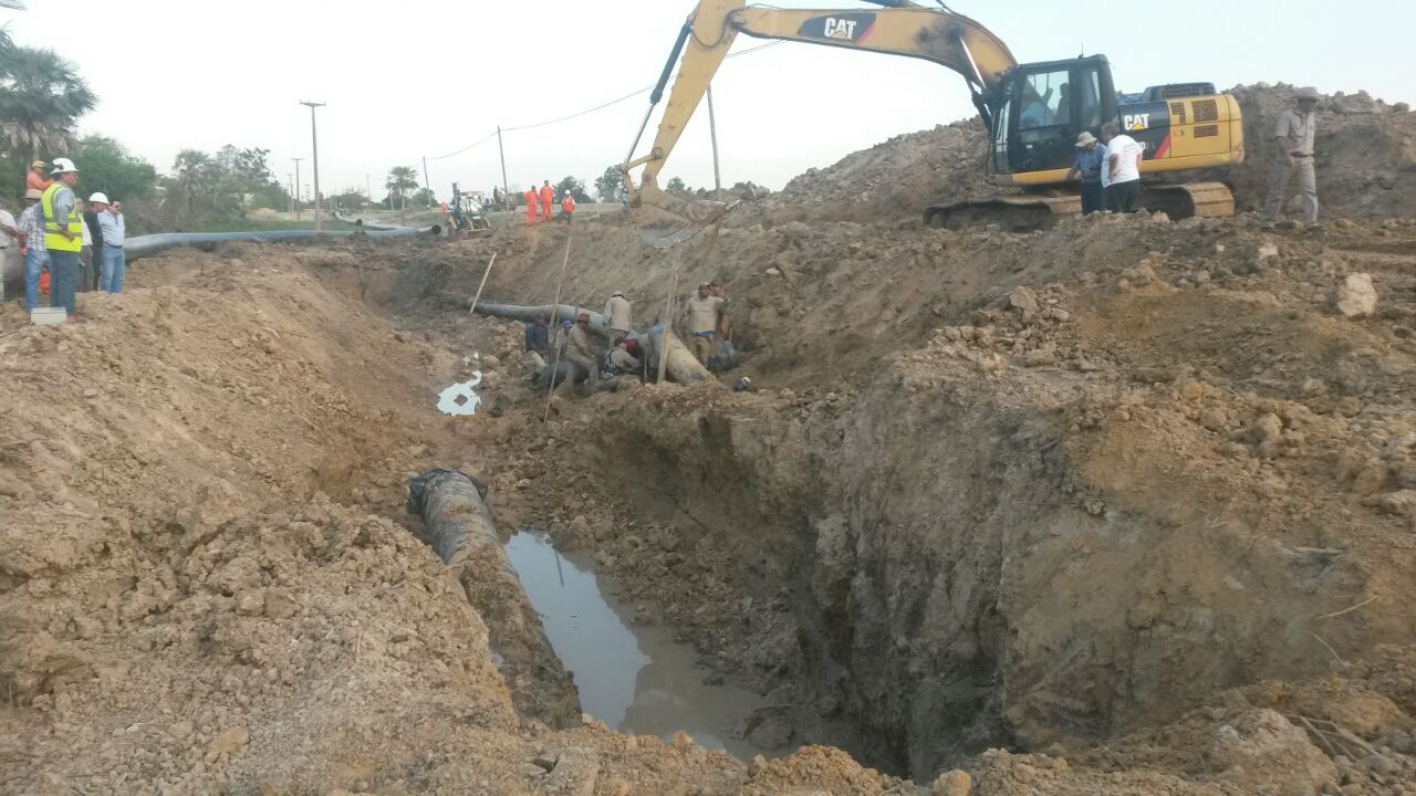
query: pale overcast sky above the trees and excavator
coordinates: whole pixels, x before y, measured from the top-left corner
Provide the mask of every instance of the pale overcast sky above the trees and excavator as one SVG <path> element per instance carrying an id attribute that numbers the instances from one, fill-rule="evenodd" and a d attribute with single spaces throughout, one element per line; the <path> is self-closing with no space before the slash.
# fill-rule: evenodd
<path id="1" fill-rule="evenodd" d="M 392 166 L 421 169 L 422 156 L 459 150 L 497 125 L 565 116 L 651 84 L 692 7 L 691 0 L 33 0 L 28 11 L 10 14 L 10 27 L 20 42 L 71 58 L 89 79 L 101 103 L 82 132 L 113 136 L 161 171 L 180 149 L 234 143 L 272 150 L 285 178 L 290 157 L 310 156 L 310 113 L 297 102 L 327 102 L 319 112 L 320 183 L 330 194 L 362 187 L 365 176 L 378 186 Z M 1126 4 L 1124 23 L 1116 4 L 1087 11 L 1056 0 L 956 0 L 952 7 L 991 28 L 1021 61 L 1103 52 L 1124 91 L 1281 81 L 1416 101 L 1409 57 L 1416 3 L 1137 1 Z M 735 50 L 759 44 L 739 37 Z M 942 67 L 804 44 L 728 61 L 714 93 L 724 183 L 772 188 L 891 136 L 973 115 L 963 81 Z M 624 157 L 646 108 L 641 95 L 507 133 L 510 181 L 565 174 L 592 181 Z M 310 161 L 302 166 L 307 181 Z M 455 180 L 464 188 L 501 180 L 496 140 L 429 160 L 428 169 L 439 195 Z M 705 112 L 663 174 L 712 184 Z M 382 195 L 377 187 L 375 195 Z"/>

